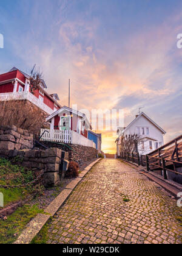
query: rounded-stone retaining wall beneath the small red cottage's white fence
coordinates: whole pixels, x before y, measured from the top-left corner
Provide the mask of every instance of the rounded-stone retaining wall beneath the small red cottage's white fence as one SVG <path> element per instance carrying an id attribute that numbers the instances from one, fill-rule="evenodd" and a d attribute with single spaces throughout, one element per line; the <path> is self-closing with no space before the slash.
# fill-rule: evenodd
<path id="1" fill-rule="evenodd" d="M 91 161 L 96 158 L 98 155 L 98 151 L 95 148 L 90 148 L 77 144 L 66 144 L 69 146 L 64 146 L 62 144 L 57 144 L 49 141 L 41 141 L 41 144 L 46 146 L 47 148 L 59 148 L 69 153 L 69 161 L 75 161 L 78 163 L 83 163 L 86 161 Z M 73 152 L 72 151 L 75 151 Z"/>

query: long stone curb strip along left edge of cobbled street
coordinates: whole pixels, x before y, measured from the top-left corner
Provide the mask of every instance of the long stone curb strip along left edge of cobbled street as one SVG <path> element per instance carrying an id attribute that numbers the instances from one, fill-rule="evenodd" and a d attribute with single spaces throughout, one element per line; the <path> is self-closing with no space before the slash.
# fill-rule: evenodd
<path id="1" fill-rule="evenodd" d="M 79 182 L 86 176 L 87 172 L 90 171 L 95 163 L 99 162 L 101 158 L 98 158 L 95 162 L 91 163 L 87 166 L 84 171 L 79 174 L 78 178 L 72 180 L 67 187 L 61 191 L 61 193 L 50 203 L 50 205 L 45 208 L 45 214 L 39 213 L 32 219 L 32 221 L 27 224 L 25 229 L 22 231 L 19 238 L 13 244 L 30 244 L 33 238 L 39 233 L 42 227 L 45 225 L 49 219 L 55 215 L 55 213 L 59 210 L 62 204 L 67 200 L 70 196 L 74 188 L 78 185 Z"/>

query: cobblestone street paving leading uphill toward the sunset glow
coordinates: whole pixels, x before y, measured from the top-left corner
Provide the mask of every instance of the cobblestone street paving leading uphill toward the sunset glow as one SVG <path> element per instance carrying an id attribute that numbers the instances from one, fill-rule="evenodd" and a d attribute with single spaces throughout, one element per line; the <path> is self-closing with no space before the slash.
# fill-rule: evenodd
<path id="1" fill-rule="evenodd" d="M 49 223 L 48 243 L 181 243 L 181 208 L 119 160 L 102 160 Z"/>

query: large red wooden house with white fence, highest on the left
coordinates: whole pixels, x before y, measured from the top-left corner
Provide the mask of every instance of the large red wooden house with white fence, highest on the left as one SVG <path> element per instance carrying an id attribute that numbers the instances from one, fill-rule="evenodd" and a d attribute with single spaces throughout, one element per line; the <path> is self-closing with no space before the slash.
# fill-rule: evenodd
<path id="1" fill-rule="evenodd" d="M 41 80 L 34 94 L 30 93 L 30 76 L 15 67 L 8 73 L 0 74 L 0 101 L 28 100 L 50 115 L 61 105 L 58 94 L 49 94 L 46 89 L 47 85 Z"/>

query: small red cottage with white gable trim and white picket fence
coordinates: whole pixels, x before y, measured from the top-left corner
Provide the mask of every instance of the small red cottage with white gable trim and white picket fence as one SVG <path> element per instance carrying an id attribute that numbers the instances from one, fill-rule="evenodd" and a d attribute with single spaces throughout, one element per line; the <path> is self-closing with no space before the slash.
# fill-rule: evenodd
<path id="1" fill-rule="evenodd" d="M 88 138 L 88 131 L 92 127 L 84 113 L 64 106 L 50 115 L 46 121 L 50 123 L 50 130 L 41 130 L 42 140 L 96 148 L 96 144 Z"/>

